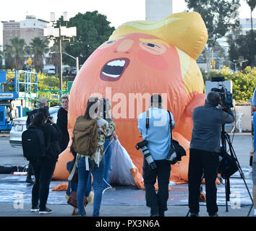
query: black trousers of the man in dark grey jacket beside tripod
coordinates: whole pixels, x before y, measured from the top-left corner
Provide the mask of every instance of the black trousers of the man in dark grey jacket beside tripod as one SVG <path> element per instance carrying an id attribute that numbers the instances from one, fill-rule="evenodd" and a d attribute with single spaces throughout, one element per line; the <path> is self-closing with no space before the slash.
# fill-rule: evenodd
<path id="1" fill-rule="evenodd" d="M 205 178 L 206 207 L 209 215 L 218 212 L 216 178 L 218 175 L 218 153 L 190 149 L 189 154 L 189 209 L 199 212 L 199 197 L 202 174 Z"/>

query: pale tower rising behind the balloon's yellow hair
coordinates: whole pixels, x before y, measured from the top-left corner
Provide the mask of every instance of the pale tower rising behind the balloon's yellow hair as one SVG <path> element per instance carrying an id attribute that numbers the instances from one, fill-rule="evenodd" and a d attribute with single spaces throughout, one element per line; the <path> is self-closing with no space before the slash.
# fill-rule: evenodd
<path id="1" fill-rule="evenodd" d="M 160 21 L 172 14 L 172 0 L 146 0 L 146 20 Z"/>

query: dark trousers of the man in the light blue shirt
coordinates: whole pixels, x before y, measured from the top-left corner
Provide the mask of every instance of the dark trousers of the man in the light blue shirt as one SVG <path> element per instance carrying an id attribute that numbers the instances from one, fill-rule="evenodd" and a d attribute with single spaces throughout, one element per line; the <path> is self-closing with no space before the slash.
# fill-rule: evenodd
<path id="1" fill-rule="evenodd" d="M 152 215 L 159 214 L 163 216 L 167 210 L 168 184 L 171 172 L 171 165 L 166 160 L 155 160 L 157 168 L 150 170 L 148 162 L 144 158 L 143 178 L 145 185 L 146 204 L 150 207 Z M 155 192 L 154 184 L 158 178 L 158 193 Z"/>

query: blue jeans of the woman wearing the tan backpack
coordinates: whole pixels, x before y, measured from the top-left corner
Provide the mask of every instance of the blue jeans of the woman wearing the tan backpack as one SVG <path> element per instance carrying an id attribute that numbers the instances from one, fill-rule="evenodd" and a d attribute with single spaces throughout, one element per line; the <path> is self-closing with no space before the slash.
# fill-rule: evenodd
<path id="1" fill-rule="evenodd" d="M 88 185 L 88 175 L 93 174 L 93 217 L 98 217 L 101 209 L 101 199 L 103 192 L 103 171 L 105 166 L 104 158 L 101 160 L 100 165 L 94 165 L 92 170 L 93 161 L 89 159 L 90 170 L 85 170 L 85 157 L 80 158 L 78 161 L 78 186 L 77 186 L 77 209 L 81 216 L 85 215 L 83 198 L 85 195 L 85 188 Z"/>

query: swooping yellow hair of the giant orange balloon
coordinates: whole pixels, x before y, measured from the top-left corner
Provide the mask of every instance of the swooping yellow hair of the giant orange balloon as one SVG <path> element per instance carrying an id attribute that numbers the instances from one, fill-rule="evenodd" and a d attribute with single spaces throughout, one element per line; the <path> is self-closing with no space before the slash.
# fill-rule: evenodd
<path id="1" fill-rule="evenodd" d="M 165 45 L 166 43 L 174 45 L 179 54 L 187 94 L 195 91 L 203 92 L 202 74 L 196 60 L 205 48 L 208 32 L 200 14 L 197 12 L 171 14 L 160 22 L 127 22 L 114 30 L 109 39 L 136 32 L 160 38 Z"/>

